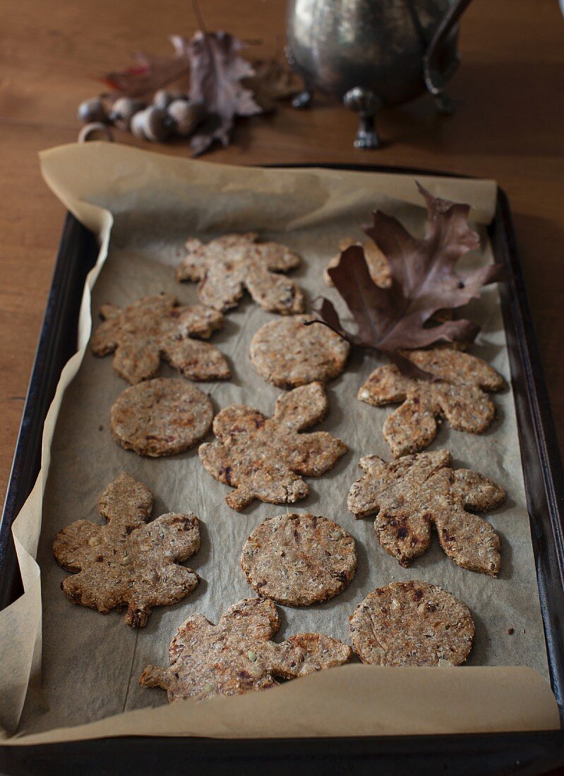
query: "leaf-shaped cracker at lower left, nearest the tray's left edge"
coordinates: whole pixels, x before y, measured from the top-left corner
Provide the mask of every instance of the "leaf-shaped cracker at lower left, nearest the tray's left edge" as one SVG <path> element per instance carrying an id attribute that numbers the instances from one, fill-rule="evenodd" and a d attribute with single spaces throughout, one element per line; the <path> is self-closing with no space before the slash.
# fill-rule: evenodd
<path id="1" fill-rule="evenodd" d="M 73 603 L 104 615 L 127 606 L 125 622 L 141 628 L 151 607 L 176 604 L 193 591 L 200 577 L 178 563 L 200 547 L 198 518 L 162 514 L 147 523 L 152 507 L 148 487 L 120 474 L 99 500 L 106 525 L 77 520 L 57 533 L 57 563 L 77 572 L 61 582 Z"/>

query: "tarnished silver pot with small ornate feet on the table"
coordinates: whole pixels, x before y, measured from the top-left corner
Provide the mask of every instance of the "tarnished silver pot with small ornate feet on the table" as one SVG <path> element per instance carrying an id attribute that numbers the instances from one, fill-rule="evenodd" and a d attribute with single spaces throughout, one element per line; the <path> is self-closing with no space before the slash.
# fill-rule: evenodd
<path id="1" fill-rule="evenodd" d="M 380 144 L 375 116 L 430 92 L 452 113 L 444 84 L 458 67 L 458 19 L 471 0 L 289 0 L 287 56 L 304 80 L 294 107 L 315 90 L 360 116 L 355 146 Z"/>

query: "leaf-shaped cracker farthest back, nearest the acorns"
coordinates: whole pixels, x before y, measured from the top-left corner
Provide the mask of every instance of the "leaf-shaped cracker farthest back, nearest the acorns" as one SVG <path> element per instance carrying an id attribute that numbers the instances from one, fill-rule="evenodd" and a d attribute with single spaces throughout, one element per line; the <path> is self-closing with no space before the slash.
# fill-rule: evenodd
<path id="1" fill-rule="evenodd" d="M 199 280 L 200 302 L 215 310 L 237 307 L 246 288 L 263 310 L 301 313 L 304 296 L 298 285 L 275 274 L 296 268 L 299 256 L 285 245 L 256 240 L 254 232 L 226 234 L 207 244 L 190 239 L 188 255 L 176 268 L 176 279 Z"/>

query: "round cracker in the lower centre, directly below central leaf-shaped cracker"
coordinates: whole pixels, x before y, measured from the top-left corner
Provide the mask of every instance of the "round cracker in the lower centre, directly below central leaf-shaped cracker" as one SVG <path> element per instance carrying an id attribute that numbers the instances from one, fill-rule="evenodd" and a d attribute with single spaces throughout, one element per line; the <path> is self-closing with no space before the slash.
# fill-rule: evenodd
<path id="1" fill-rule="evenodd" d="M 245 542 L 241 566 L 247 582 L 264 598 L 286 606 L 308 606 L 333 598 L 357 570 L 353 537 L 315 514 L 269 518 Z"/>

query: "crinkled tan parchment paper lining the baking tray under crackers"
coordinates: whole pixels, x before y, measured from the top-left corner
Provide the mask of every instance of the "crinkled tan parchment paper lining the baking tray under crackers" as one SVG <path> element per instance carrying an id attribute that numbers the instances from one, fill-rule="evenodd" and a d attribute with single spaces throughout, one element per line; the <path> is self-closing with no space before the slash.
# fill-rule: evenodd
<path id="1" fill-rule="evenodd" d="M 425 211 L 409 176 L 234 168 L 107 144 L 56 148 L 42 154 L 42 164 L 57 196 L 99 234 L 99 262 L 89 277 L 92 286 L 103 265 L 92 296 L 94 315 L 102 303 L 124 307 L 159 291 L 176 293 L 182 303 L 196 301 L 195 284 L 180 285 L 174 280 L 173 268 L 183 257 L 183 242 L 190 235 L 207 240 L 230 230 L 257 230 L 261 236 L 290 245 L 303 258 L 292 277 L 305 290 L 308 301 L 323 293 L 344 312 L 334 289 L 327 289 L 322 280 L 322 270 L 336 253 L 339 239 L 361 237 L 359 225 L 369 220 L 374 207 L 399 217 L 418 234 L 425 227 Z M 476 223 L 487 223 L 493 215 L 493 182 L 420 180 L 435 195 L 471 203 Z M 468 264 L 492 259 L 482 232 L 482 255 L 468 258 Z M 114 372 L 111 357 L 96 359 L 84 349 L 90 334 L 89 311 L 87 289 L 79 351 L 61 377 L 46 423 L 43 473 L 14 526 L 26 594 L 0 613 L 0 650 L 7 656 L 0 665 L 0 719 L 6 729 L 16 725 L 31 677 L 19 732 L 48 731 L 40 739 L 18 738 L 18 743 L 118 735 L 132 729 L 154 735 L 173 731 L 212 736 L 248 736 L 252 735 L 249 730 L 256 729 L 257 736 L 291 736 L 297 734 L 298 722 L 302 735 L 360 733 L 358 726 L 350 728 L 350 722 L 343 726 L 340 717 L 337 724 L 327 712 L 329 698 L 354 706 L 356 719 L 364 720 L 363 734 L 558 726 L 547 681 L 510 387 L 496 395 L 497 418 L 486 434 L 466 435 L 443 424 L 431 445 L 431 449 L 450 449 L 454 466 L 478 469 L 506 488 L 507 503 L 489 516 L 502 539 L 499 579 L 451 563 L 436 537 L 426 555 L 410 569 L 402 569 L 378 546 L 373 520 L 356 521 L 346 510 L 346 494 L 360 476 L 358 459 L 370 453 L 391 457 L 381 435 L 390 408 L 369 407 L 356 398 L 358 387 L 379 363 L 374 355 L 354 353 L 343 376 L 329 383 L 329 414 L 314 429 L 342 438 L 349 446 L 346 456 L 319 480 L 308 480 L 310 494 L 298 504 L 285 508 L 254 502 L 238 514 L 225 504 L 228 488 L 201 466 L 197 449 L 169 459 L 143 459 L 113 442 L 110 406 L 126 383 Z M 470 315 L 482 324 L 473 352 L 509 379 L 495 287 L 485 289 L 482 298 L 472 303 Z M 214 334 L 211 341 L 227 355 L 233 372 L 228 382 L 200 386 L 210 394 L 216 411 L 240 403 L 272 414 L 280 390 L 265 383 L 249 361 L 252 334 L 272 319 L 272 314 L 246 297 L 227 314 L 225 329 Z M 162 374 L 175 373 L 163 365 Z M 49 462 L 42 518 L 41 491 Z M 165 511 L 194 511 L 201 521 L 200 551 L 187 562 L 202 577 L 200 585 L 178 605 L 155 608 L 141 630 L 128 628 L 117 612 L 104 617 L 72 605 L 60 591 L 66 573 L 54 562 L 51 549 L 54 534 L 71 521 L 101 520 L 96 509 L 99 494 L 122 471 L 151 488 L 155 517 Z M 369 591 L 393 580 L 420 579 L 447 588 L 471 609 L 476 636 L 468 667 L 389 670 L 357 664 L 250 698 L 218 698 L 213 705 L 183 702 L 172 709 L 123 715 L 165 704 L 165 693 L 141 688 L 138 677 L 148 663 L 168 664 L 169 641 L 187 616 L 201 611 L 216 622 L 229 605 L 254 595 L 239 566 L 242 544 L 256 525 L 284 511 L 312 511 L 343 525 L 357 540 L 358 570 L 346 591 L 332 601 L 308 608 L 280 608 L 282 627 L 277 639 L 299 631 L 319 631 L 348 641 L 348 615 Z M 33 562 L 38 539 L 39 569 Z M 514 629 L 512 635 L 510 629 Z M 472 668 L 511 666 L 532 668 L 540 677 L 524 669 Z M 404 697 L 400 702 L 396 689 L 409 700 Z M 517 698 L 523 701 L 519 708 Z M 280 713 L 283 706 L 287 712 Z M 301 713 L 296 716 L 298 707 Z M 119 716 L 88 725 L 110 715 Z M 54 730 L 78 725 L 85 727 L 78 732 Z"/>

